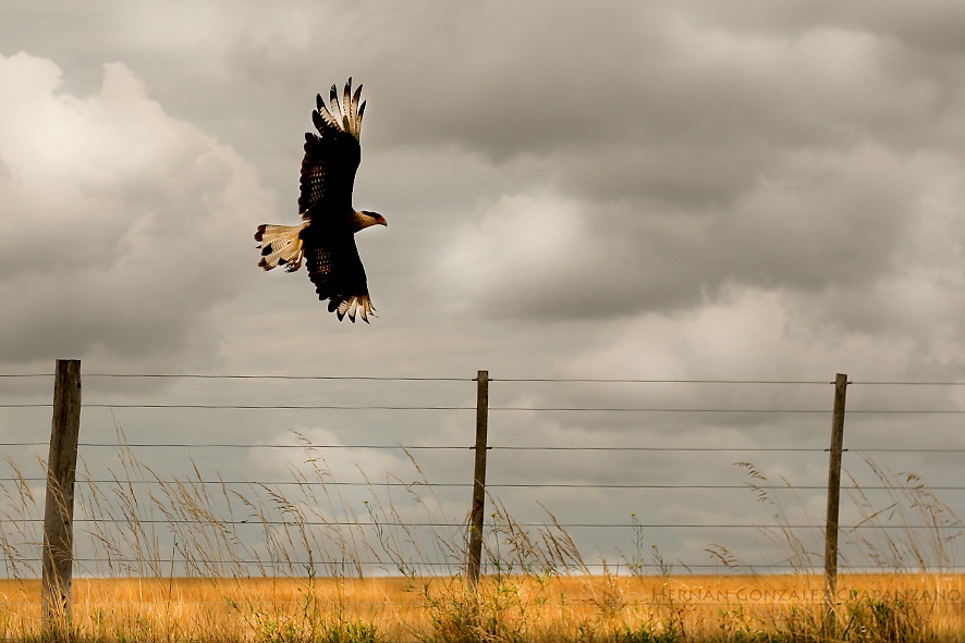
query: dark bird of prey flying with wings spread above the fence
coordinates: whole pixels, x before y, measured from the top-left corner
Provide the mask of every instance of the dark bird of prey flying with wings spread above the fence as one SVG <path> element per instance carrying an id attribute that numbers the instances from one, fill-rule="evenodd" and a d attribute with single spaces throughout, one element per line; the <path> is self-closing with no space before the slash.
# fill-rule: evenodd
<path id="1" fill-rule="evenodd" d="M 352 186 L 362 159 L 358 137 L 365 101 L 358 104 L 361 95 L 362 85 L 352 94 L 352 78 L 345 84 L 341 104 L 332 85 L 331 111 L 317 95 L 312 122 L 318 134 L 305 134 L 302 159 L 298 212 L 303 222 L 259 225 L 255 233 L 261 248 L 258 265 L 264 270 L 282 265 L 293 272 L 304 259 L 318 298 L 329 300 L 329 312 L 335 312 L 339 321 L 347 314 L 353 323 L 356 312 L 368 323 L 368 316 L 375 310 L 355 247 L 355 233 L 370 225 L 388 225 L 378 212 L 352 206 Z"/>

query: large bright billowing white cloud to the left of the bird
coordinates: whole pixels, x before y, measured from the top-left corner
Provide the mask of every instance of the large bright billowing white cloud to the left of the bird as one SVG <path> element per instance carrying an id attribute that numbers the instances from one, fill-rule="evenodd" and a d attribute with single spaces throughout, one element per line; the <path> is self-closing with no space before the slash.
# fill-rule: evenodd
<path id="1" fill-rule="evenodd" d="M 244 159 L 168 115 L 120 63 L 100 90 L 58 91 L 60 70 L 0 58 L 0 358 L 100 355 L 203 361 L 207 313 L 253 265 L 246 234 L 273 198 Z"/>

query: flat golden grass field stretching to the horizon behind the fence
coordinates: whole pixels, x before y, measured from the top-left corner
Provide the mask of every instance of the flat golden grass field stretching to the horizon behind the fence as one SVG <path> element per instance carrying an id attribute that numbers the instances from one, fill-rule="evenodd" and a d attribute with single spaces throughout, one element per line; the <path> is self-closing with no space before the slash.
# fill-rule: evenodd
<path id="1" fill-rule="evenodd" d="M 77 641 L 963 641 L 965 574 L 80 579 Z M 39 641 L 39 581 L 0 581 L 0 636 Z"/>

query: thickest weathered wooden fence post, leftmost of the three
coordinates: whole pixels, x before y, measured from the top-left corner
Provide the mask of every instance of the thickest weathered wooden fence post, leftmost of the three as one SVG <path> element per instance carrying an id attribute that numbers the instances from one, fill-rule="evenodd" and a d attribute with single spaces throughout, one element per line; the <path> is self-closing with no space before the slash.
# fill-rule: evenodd
<path id="1" fill-rule="evenodd" d="M 44 628 L 64 625 L 72 613 L 74 479 L 81 432 L 81 361 L 57 360 L 53 422 L 44 504 L 41 610 Z"/>

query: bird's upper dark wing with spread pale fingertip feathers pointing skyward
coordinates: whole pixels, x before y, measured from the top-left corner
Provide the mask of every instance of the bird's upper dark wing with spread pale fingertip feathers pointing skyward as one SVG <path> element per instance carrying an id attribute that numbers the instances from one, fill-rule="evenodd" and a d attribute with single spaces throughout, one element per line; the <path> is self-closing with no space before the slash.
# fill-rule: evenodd
<path id="1" fill-rule="evenodd" d="M 318 109 L 312 112 L 312 121 L 318 135 L 305 134 L 305 157 L 302 159 L 302 194 L 298 197 L 302 219 L 352 213 L 352 187 L 362 160 L 358 137 L 365 102 L 358 104 L 361 96 L 362 85 L 353 95 L 352 78 L 349 78 L 341 106 L 334 85 L 329 96 L 331 111 L 320 94 L 316 97 Z"/>

